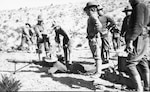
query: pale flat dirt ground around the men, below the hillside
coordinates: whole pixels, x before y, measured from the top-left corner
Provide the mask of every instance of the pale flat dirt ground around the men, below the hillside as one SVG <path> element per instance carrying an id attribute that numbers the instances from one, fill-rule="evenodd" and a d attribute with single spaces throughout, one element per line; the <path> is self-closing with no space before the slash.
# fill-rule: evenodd
<path id="1" fill-rule="evenodd" d="M 88 47 L 73 49 L 72 53 L 73 62 L 87 62 L 87 66 L 88 62 L 94 63 Z M 47 74 L 48 68 L 27 63 L 38 59 L 36 53 L 1 52 L 0 55 L 0 73 L 20 80 L 22 87 L 19 91 L 121 91 L 120 84 L 101 78 L 94 79 L 91 76 L 68 73 Z M 112 58 L 115 55 L 116 52 L 111 52 Z M 15 63 L 8 62 L 7 59 L 24 60 L 24 63 L 16 63 L 15 67 Z M 117 60 L 111 60 L 110 65 L 117 65 Z M 21 69 L 13 74 L 15 68 Z M 95 83 L 100 86 L 96 88 Z"/>

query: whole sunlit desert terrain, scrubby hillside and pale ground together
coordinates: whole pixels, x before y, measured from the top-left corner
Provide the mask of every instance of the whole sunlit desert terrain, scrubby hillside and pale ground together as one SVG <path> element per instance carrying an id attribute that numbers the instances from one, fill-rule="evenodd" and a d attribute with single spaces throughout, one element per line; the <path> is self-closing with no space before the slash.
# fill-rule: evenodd
<path id="1" fill-rule="evenodd" d="M 129 5 L 128 0 L 96 0 L 102 4 L 106 15 L 112 17 L 118 28 L 121 29 L 125 14 L 123 9 Z M 148 1 L 148 0 L 145 0 Z M 50 32 L 51 52 L 55 54 L 56 45 L 54 32 L 51 31 L 51 22 L 57 21 L 69 34 L 71 38 L 71 59 L 74 63 L 80 63 L 85 69 L 93 68 L 92 54 L 86 39 L 87 16 L 83 11 L 87 2 L 50 4 L 36 8 L 21 7 L 19 9 L 0 11 L 0 74 L 20 80 L 22 87 L 19 91 L 106 91 L 122 92 L 122 85 L 114 83 L 109 79 L 95 79 L 90 75 L 75 73 L 49 74 L 50 67 L 43 67 L 32 63 L 38 60 L 38 54 L 17 50 L 21 42 L 20 27 L 24 23 L 35 25 L 37 16 L 41 14 L 44 18 L 46 30 Z M 112 46 L 112 44 L 111 44 Z M 118 55 L 124 50 L 110 52 L 110 67 L 118 67 Z M 55 56 L 55 55 L 53 55 Z M 20 63 L 8 62 L 8 59 L 23 61 Z M 91 67 L 90 67 L 91 66 Z M 19 69 L 15 74 L 15 70 Z M 103 74 L 105 72 L 103 71 Z M 117 75 L 118 73 L 116 73 Z M 110 74 L 111 76 L 111 74 Z M 110 77 L 111 78 L 111 77 Z M 112 78 L 115 78 L 112 76 Z M 1 80 L 1 76 L 0 76 Z M 98 86 L 96 86 L 98 85 Z"/>

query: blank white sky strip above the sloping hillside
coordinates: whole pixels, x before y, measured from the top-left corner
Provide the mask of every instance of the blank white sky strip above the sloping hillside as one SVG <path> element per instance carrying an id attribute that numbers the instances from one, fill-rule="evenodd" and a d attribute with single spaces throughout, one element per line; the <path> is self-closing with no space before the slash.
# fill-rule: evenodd
<path id="1" fill-rule="evenodd" d="M 18 9 L 20 7 L 38 7 L 50 4 L 77 3 L 90 0 L 0 0 L 0 10 Z"/>

